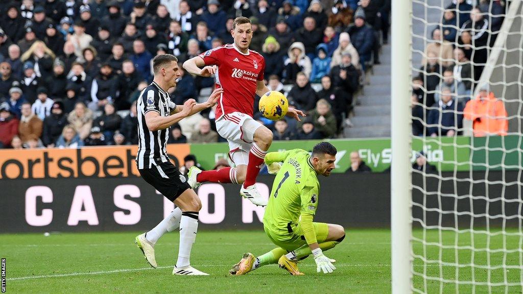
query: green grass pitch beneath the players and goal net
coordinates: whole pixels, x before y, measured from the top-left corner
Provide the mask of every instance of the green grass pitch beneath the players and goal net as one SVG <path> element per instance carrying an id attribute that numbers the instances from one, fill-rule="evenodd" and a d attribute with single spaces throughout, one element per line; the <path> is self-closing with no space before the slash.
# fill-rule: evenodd
<path id="1" fill-rule="evenodd" d="M 191 264 L 211 274 L 208 277 L 173 276 L 172 266 L 178 252 L 178 234 L 168 233 L 156 244 L 157 269 L 150 268 L 140 250 L 134 245 L 135 233 L 63 233 L 3 234 L 0 235 L 0 257 L 6 258 L 7 293 L 389 293 L 391 287 L 390 231 L 349 230 L 347 238 L 328 257 L 337 260 L 333 274 L 316 273 L 312 258 L 300 263 L 305 276 L 292 277 L 276 265 L 262 267 L 246 276 L 229 276 L 229 269 L 244 252 L 259 255 L 271 250 L 263 231 L 201 231 L 192 251 Z M 415 236 L 422 236 L 416 231 Z M 470 236 L 469 236 L 470 237 Z M 427 235 L 430 242 L 438 242 L 437 231 Z M 445 245 L 454 244 L 454 234 L 442 234 Z M 459 245 L 470 245 L 463 235 Z M 486 245 L 486 237 L 476 235 L 474 245 Z M 507 249 L 517 248 L 519 238 L 505 238 Z M 491 249 L 503 248 L 503 238 L 492 237 Z M 423 253 L 423 246 L 415 242 L 414 252 Z M 426 248 L 433 260 L 439 259 L 439 250 Z M 452 262 L 453 250 L 442 250 L 442 260 Z M 486 254 L 476 253 L 475 264 L 486 264 Z M 460 263 L 470 262 L 470 252 L 459 252 Z M 491 253 L 492 265 L 503 262 L 503 254 Z M 519 254 L 508 254 L 506 264 L 518 265 Z M 416 259 L 415 271 L 424 272 Z M 439 266 L 428 265 L 426 273 L 439 276 Z M 491 281 L 519 282 L 520 270 L 491 271 Z M 463 268 L 459 276 L 469 280 L 472 271 Z M 453 267 L 442 266 L 442 277 L 453 279 Z M 476 281 L 487 280 L 487 270 L 474 270 Z M 414 277 L 415 287 L 425 285 Z M 428 281 L 427 292 L 439 293 L 439 281 Z M 521 287 L 509 287 L 508 293 L 519 293 Z M 477 286 L 476 293 L 488 293 L 487 286 Z M 454 284 L 445 284 L 443 293 L 456 292 Z M 460 293 L 471 293 L 470 286 L 460 286 Z M 492 287 L 493 293 L 505 293 L 505 287 Z"/>

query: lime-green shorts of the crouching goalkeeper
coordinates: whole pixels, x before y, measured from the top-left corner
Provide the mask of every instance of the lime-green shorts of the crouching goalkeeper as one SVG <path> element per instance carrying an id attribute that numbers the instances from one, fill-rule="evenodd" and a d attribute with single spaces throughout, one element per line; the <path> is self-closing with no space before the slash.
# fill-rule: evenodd
<path id="1" fill-rule="evenodd" d="M 314 225 L 314 232 L 316 233 L 318 243 L 325 242 L 328 235 L 328 225 L 324 222 L 313 222 L 312 224 Z M 287 233 L 283 234 L 281 232 L 271 231 L 266 227 L 264 227 L 264 230 L 272 243 L 288 252 L 307 244 L 300 223 L 289 223 L 287 225 Z"/>

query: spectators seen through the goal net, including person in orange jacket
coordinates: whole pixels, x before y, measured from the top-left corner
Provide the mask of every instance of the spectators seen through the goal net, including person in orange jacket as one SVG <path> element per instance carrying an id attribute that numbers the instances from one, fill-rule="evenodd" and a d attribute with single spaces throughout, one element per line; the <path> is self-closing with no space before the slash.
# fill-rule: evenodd
<path id="1" fill-rule="evenodd" d="M 501 2 L 490 0 L 479 0 L 477 6 L 454 0 L 446 7 L 413 78 L 414 135 L 453 137 L 462 134 L 463 119 L 472 121 L 476 137 L 507 134 L 503 101 L 488 83 L 479 84 L 504 13 Z"/>

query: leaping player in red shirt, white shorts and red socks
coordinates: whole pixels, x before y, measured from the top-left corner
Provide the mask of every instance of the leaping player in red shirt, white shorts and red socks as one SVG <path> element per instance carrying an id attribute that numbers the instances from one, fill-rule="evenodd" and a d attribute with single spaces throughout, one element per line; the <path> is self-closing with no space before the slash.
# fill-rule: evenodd
<path id="1" fill-rule="evenodd" d="M 229 157 L 236 167 L 201 171 L 196 166 L 188 173 L 188 183 L 197 188 L 203 182 L 243 184 L 240 194 L 255 205 L 266 206 L 267 199 L 256 188 L 256 176 L 272 143 L 272 132 L 253 119 L 254 96 L 270 90 L 264 84 L 265 60 L 250 50 L 251 21 L 237 17 L 231 31 L 234 44 L 208 50 L 184 63 L 184 69 L 200 76 L 215 75 L 216 87 L 223 88 L 216 109 L 216 128 L 229 142 Z M 200 67 L 203 67 L 200 69 Z M 287 116 L 298 121 L 303 112 L 290 109 Z"/>

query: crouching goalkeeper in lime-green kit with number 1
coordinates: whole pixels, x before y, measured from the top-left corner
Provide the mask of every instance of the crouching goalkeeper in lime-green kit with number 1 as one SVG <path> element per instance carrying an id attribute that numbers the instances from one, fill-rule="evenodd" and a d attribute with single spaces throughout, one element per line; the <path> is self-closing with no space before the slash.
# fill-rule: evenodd
<path id="1" fill-rule="evenodd" d="M 319 201 L 317 175 L 329 176 L 336 161 L 336 148 L 328 142 L 314 146 L 312 155 L 302 149 L 270 152 L 265 156 L 269 173 L 276 178 L 265 208 L 264 230 L 278 247 L 255 257 L 245 253 L 230 270 L 245 275 L 263 265 L 276 264 L 291 275 L 303 275 L 298 261 L 314 256 L 316 271 L 332 273 L 336 261 L 323 254 L 345 238 L 341 225 L 313 222 Z M 280 166 L 279 162 L 283 162 Z"/>

